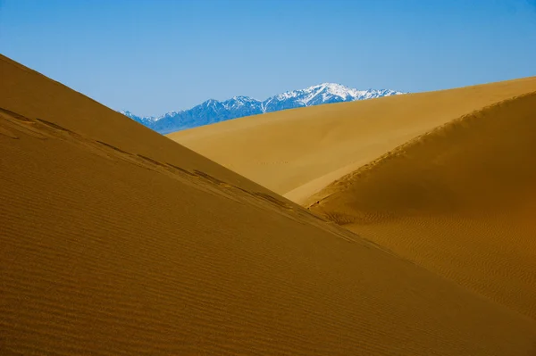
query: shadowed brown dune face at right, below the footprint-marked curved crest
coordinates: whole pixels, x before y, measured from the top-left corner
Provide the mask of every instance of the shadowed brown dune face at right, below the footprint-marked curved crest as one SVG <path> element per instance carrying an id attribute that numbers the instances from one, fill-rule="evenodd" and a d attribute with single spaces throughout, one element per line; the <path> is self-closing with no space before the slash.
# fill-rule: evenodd
<path id="1" fill-rule="evenodd" d="M 436 128 L 309 203 L 327 219 L 536 318 L 535 157 L 530 94 Z"/>

